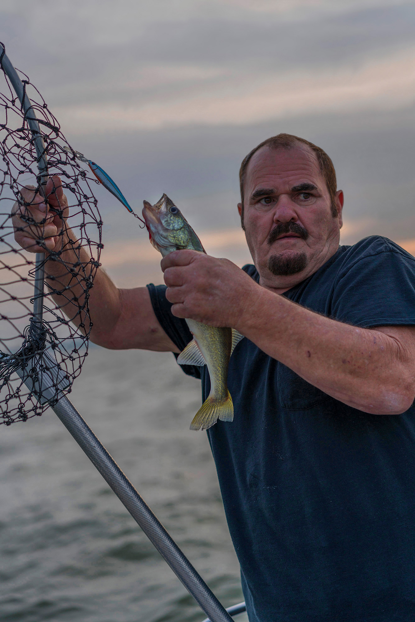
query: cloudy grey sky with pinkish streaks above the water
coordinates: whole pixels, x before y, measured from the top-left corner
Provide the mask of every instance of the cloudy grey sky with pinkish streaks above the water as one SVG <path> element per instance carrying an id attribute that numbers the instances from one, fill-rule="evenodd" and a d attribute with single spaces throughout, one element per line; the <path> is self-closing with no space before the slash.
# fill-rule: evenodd
<path id="1" fill-rule="evenodd" d="M 332 157 L 342 243 L 415 253 L 415 1 L 2 0 L 0 24 L 73 148 L 136 211 L 166 192 L 209 253 L 249 262 L 238 169 L 279 132 Z M 110 275 L 162 282 L 146 232 L 96 193 Z"/>

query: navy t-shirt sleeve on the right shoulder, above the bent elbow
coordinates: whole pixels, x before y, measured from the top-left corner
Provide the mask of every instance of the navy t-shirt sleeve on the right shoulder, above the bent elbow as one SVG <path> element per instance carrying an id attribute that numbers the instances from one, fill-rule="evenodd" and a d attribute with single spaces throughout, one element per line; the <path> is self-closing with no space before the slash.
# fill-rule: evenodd
<path id="1" fill-rule="evenodd" d="M 415 259 L 390 243 L 344 266 L 332 317 L 360 327 L 415 325 Z"/>

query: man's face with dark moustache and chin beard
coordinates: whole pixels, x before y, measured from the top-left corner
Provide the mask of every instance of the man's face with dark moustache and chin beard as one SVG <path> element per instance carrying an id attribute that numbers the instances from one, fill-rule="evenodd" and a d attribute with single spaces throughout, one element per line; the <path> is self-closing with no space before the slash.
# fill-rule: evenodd
<path id="1" fill-rule="evenodd" d="M 261 147 L 248 164 L 244 197 L 246 241 L 264 287 L 289 289 L 337 251 L 343 193 L 336 194 L 333 218 L 329 190 L 309 147 Z"/>

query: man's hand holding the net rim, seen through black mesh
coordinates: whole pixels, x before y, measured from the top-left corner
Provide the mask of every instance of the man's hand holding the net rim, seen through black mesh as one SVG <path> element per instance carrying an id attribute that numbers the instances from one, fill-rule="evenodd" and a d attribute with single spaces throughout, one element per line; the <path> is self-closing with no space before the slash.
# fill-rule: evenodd
<path id="1" fill-rule="evenodd" d="M 21 200 L 12 207 L 14 239 L 29 253 L 44 253 L 62 248 L 62 228 L 68 217 L 68 201 L 63 194 L 60 177 L 50 177 L 45 188 L 45 199 L 36 188 L 27 185 L 21 189 Z M 56 213 L 53 209 L 59 210 Z M 42 244 L 39 244 L 39 241 Z"/>

